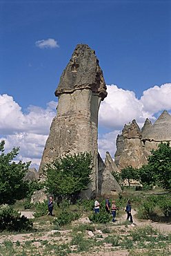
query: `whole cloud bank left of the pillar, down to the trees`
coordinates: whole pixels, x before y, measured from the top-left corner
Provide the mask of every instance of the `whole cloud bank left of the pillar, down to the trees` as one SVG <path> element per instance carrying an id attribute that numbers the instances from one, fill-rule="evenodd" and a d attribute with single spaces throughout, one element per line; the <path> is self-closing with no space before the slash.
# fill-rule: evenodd
<path id="1" fill-rule="evenodd" d="M 52 101 L 48 102 L 46 109 L 29 106 L 27 113 L 23 113 L 12 96 L 0 95 L 0 134 L 1 140 L 6 140 L 6 150 L 20 147 L 17 159 L 28 159 L 38 167 L 56 107 L 57 102 Z"/>

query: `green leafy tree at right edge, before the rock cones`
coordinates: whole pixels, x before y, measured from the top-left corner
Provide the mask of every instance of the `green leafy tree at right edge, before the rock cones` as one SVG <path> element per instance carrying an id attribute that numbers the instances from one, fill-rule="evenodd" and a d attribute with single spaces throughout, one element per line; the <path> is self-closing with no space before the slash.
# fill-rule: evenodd
<path id="1" fill-rule="evenodd" d="M 159 185 L 171 189 L 171 147 L 170 143 L 161 143 L 152 150 L 148 165 L 139 169 L 139 180 L 148 185 Z"/>

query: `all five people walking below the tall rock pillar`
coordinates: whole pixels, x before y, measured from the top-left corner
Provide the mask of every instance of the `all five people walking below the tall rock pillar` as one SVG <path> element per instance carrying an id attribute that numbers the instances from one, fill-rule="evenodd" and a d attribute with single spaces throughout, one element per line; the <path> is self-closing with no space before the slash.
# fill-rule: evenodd
<path id="1" fill-rule="evenodd" d="M 100 212 L 100 203 L 99 201 L 94 201 L 94 212 L 96 214 L 98 214 Z M 111 207 L 110 207 L 111 206 Z M 112 213 L 112 222 L 116 222 L 116 213 L 117 210 L 119 210 L 119 208 L 117 207 L 117 205 L 115 204 L 115 201 L 112 201 L 112 205 L 110 205 L 110 200 L 107 198 L 105 199 L 105 210 L 106 212 L 108 212 L 110 214 L 110 209 L 111 209 L 111 213 Z M 50 196 L 49 201 L 48 201 L 48 211 L 49 211 L 49 215 L 53 216 L 53 198 L 52 196 Z M 133 223 L 133 219 L 132 219 L 132 214 L 131 214 L 131 203 L 130 200 L 128 200 L 128 203 L 126 205 L 125 208 L 125 212 L 127 212 L 127 220 L 130 219 L 130 222 Z"/>

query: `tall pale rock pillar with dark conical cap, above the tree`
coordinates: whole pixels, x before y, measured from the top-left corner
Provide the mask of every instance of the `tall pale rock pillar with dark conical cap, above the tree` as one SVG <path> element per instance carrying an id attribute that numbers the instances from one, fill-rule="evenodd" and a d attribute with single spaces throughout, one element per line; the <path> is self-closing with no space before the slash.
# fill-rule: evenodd
<path id="1" fill-rule="evenodd" d="M 92 183 L 84 193 L 90 198 L 98 192 L 98 112 L 107 92 L 99 60 L 88 45 L 78 44 L 75 48 L 55 95 L 59 97 L 57 116 L 52 120 L 39 173 L 59 156 L 90 152 Z"/>

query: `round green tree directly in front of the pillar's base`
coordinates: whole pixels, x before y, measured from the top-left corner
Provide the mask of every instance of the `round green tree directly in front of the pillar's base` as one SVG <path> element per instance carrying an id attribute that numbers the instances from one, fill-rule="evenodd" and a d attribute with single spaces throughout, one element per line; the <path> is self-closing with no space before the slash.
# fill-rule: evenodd
<path id="1" fill-rule="evenodd" d="M 62 199 L 75 198 L 91 181 L 92 156 L 89 153 L 67 155 L 46 165 L 44 172 L 48 192 Z"/>

